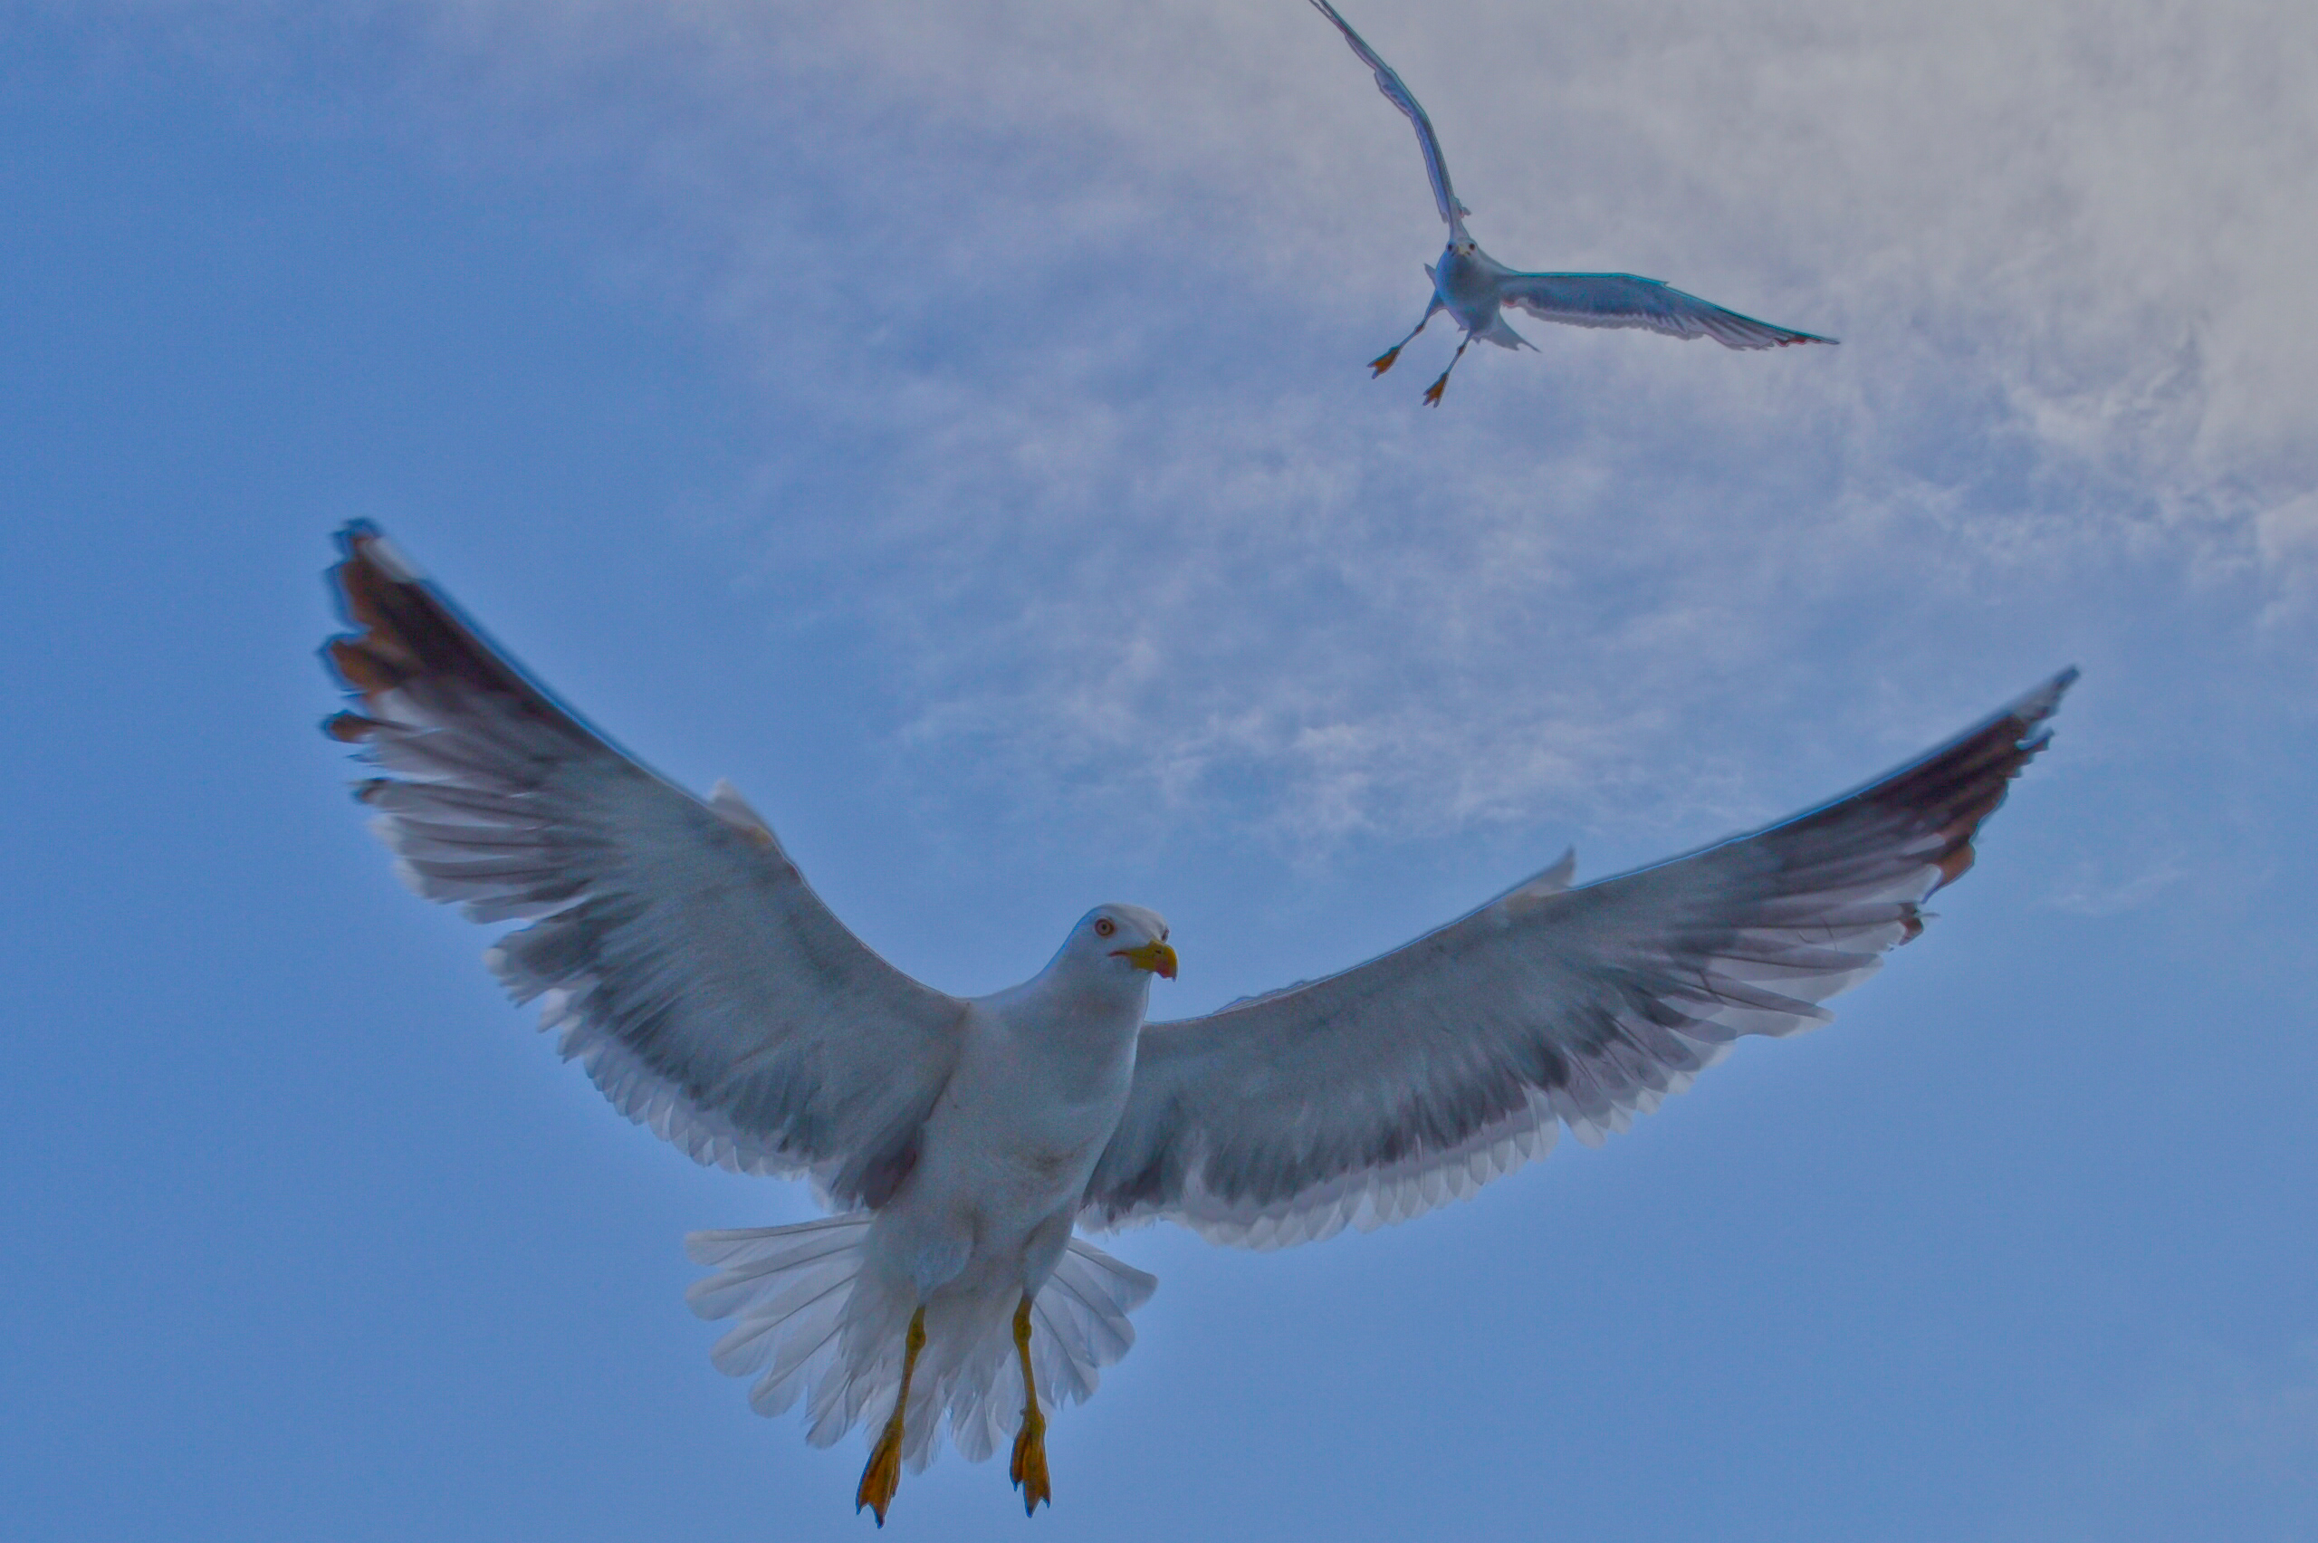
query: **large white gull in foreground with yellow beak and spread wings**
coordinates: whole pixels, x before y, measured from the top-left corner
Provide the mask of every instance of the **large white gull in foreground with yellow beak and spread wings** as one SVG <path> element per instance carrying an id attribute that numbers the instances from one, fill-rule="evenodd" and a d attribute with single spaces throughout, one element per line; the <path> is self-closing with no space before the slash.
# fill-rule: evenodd
<path id="1" fill-rule="evenodd" d="M 732 1323 L 712 1360 L 758 1413 L 865 1429 L 881 1527 L 943 1427 L 969 1462 L 1013 1434 L 1025 1508 L 1050 1499 L 1048 1413 L 1094 1397 L 1154 1286 L 1076 1228 L 1277 1249 L 1405 1221 L 1562 1126 L 1602 1145 L 1741 1036 L 1829 1022 L 1973 866 L 2077 674 L 1792 820 L 1588 885 L 1565 855 L 1368 964 L 1147 1024 L 1175 978 L 1157 913 L 1096 906 L 990 996 L 920 985 L 732 788 L 626 755 L 373 526 L 341 547 L 355 630 L 325 658 L 352 704 L 325 730 L 369 758 L 401 878 L 522 922 L 484 961 L 621 1114 L 832 1212 L 693 1233 L 688 1300 Z"/>

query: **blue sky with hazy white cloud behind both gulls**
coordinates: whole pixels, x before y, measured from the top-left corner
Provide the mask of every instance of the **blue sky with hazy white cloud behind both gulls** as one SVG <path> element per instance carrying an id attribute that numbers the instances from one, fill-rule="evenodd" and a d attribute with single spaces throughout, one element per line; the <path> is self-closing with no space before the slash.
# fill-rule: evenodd
<path id="1" fill-rule="evenodd" d="M 1057 1508 L 897 1536 L 2318 1529 L 2318 21 L 1370 2 L 1477 236 L 1843 338 L 1358 368 L 1439 246 L 1266 7 L 0 9 L 0 1506 L 860 1536 L 619 1121 L 313 732 L 385 524 L 904 968 L 1089 904 L 1191 1012 L 2086 670 L 1942 917 L 1602 1151 L 1157 1228 Z"/>

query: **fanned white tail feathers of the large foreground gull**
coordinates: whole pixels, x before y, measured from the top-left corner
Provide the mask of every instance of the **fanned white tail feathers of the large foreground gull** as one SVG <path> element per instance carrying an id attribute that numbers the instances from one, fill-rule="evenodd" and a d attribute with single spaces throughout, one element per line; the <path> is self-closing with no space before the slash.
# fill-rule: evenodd
<path id="1" fill-rule="evenodd" d="M 862 1274 L 874 1216 L 851 1212 L 786 1228 L 693 1233 L 684 1251 L 714 1267 L 684 1293 L 702 1318 L 732 1328 L 709 1351 L 726 1376 L 756 1376 L 749 1406 L 763 1416 L 807 1411 L 807 1439 L 830 1446 L 855 1425 L 881 1425 L 902 1385 L 902 1334 L 913 1304 Z M 1159 1281 L 1101 1249 L 1071 1239 L 1032 1302 L 1032 1369 L 1038 1404 L 1083 1404 L 1101 1367 L 1127 1355 L 1127 1314 Z M 1013 1353 L 1011 1300 L 934 1300 L 925 1351 L 911 1379 L 902 1457 L 923 1469 L 950 1441 L 981 1462 L 1022 1420 L 1022 1372 Z"/>

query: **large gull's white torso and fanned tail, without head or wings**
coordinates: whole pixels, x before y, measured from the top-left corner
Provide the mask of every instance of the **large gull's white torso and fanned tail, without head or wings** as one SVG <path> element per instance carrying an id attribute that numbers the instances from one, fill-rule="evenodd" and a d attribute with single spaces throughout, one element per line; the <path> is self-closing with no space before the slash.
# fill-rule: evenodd
<path id="1" fill-rule="evenodd" d="M 1073 1239 L 1071 1221 L 1127 1107 L 1150 975 L 1080 952 L 1066 945 L 1036 980 L 969 1003 L 957 1070 L 879 1212 L 691 1239 L 698 1263 L 723 1265 L 693 1309 L 739 1318 L 716 1365 L 760 1374 L 756 1409 L 802 1395 L 818 1446 L 874 1429 L 923 1304 L 904 1460 L 932 1462 L 948 1416 L 978 1462 L 1020 1420 L 1011 1325 L 1025 1295 L 1045 1404 L 1089 1397 L 1096 1369 L 1134 1344 L 1127 1314 L 1152 1277 Z"/>

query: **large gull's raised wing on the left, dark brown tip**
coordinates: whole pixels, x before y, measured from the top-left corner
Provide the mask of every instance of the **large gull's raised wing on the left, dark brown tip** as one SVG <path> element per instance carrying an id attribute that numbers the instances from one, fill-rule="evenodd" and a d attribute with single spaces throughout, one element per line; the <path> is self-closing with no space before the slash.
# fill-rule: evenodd
<path id="1" fill-rule="evenodd" d="M 566 711 L 373 526 L 338 544 L 355 632 L 322 653 L 357 704 L 325 730 L 376 762 L 359 797 L 403 880 L 531 922 L 487 959 L 628 1119 L 702 1163 L 811 1170 L 839 1205 L 881 1205 L 964 1003 L 846 931 L 739 795 L 702 804 Z"/>

